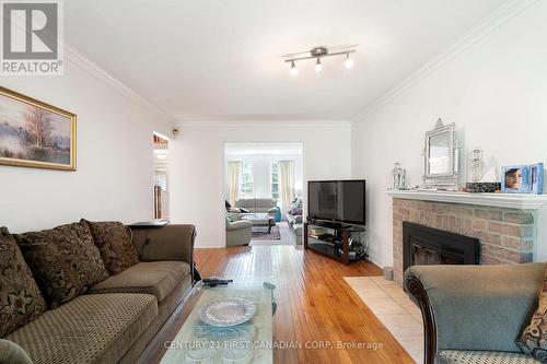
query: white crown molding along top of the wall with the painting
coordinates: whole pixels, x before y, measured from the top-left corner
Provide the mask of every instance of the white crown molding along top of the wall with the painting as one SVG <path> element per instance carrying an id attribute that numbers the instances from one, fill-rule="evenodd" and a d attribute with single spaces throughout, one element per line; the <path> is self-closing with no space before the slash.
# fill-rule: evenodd
<path id="1" fill-rule="evenodd" d="M 112 74 L 103 70 L 97 63 L 93 62 L 91 59 L 82 55 L 80 51 L 74 49 L 72 46 L 69 46 L 67 43 L 63 45 L 63 50 L 65 50 L 65 58 L 70 60 L 72 63 L 75 66 L 80 67 L 82 70 L 86 71 L 93 77 L 96 77 L 108 85 L 110 85 L 113 89 L 117 90 L 120 92 L 123 95 L 131 99 L 133 103 L 141 105 L 146 108 L 148 108 L 150 111 L 153 114 L 161 116 L 162 118 L 167 118 L 171 122 L 175 121 L 175 118 L 167 113 L 165 113 L 163 109 L 158 107 L 155 104 L 150 102 L 148 98 L 141 96 L 139 93 L 135 92 L 133 90 L 129 89 L 127 85 L 121 83 L 121 81 L 117 80 L 114 78 Z"/>

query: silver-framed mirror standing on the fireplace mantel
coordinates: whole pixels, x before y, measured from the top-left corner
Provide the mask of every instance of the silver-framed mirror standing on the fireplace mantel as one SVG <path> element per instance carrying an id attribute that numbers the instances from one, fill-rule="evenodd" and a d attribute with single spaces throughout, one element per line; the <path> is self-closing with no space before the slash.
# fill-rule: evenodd
<path id="1" fill-rule="evenodd" d="M 439 118 L 435 128 L 426 132 L 423 155 L 424 187 L 456 190 L 459 161 L 455 125 L 443 125 Z"/>

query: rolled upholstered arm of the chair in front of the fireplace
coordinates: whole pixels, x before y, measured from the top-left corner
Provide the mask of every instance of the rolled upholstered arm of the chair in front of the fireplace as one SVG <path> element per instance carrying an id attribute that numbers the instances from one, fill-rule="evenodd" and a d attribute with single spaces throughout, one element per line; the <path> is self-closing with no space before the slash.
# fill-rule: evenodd
<path id="1" fill-rule="evenodd" d="M 412 266 L 407 292 L 420 305 L 427 364 L 440 350 L 514 351 L 537 308 L 545 263 Z"/>

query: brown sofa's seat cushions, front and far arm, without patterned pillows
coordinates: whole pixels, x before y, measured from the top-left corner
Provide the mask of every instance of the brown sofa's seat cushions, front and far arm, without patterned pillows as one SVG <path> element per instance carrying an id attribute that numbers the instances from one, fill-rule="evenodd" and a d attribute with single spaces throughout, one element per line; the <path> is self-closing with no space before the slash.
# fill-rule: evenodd
<path id="1" fill-rule="evenodd" d="M 191 289 L 195 227 L 132 233 L 139 263 L 0 340 L 0 363 L 137 363 Z"/>

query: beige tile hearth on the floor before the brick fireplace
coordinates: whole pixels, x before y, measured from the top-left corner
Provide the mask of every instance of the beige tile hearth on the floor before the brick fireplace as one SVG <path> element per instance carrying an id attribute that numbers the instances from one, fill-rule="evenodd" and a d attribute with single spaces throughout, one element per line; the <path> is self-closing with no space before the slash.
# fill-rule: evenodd
<path id="1" fill-rule="evenodd" d="M 416 363 L 423 363 L 423 325 L 420 308 L 393 281 L 383 277 L 345 277 L 372 313 Z"/>

